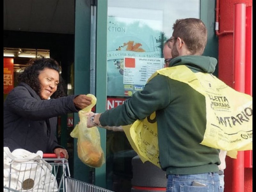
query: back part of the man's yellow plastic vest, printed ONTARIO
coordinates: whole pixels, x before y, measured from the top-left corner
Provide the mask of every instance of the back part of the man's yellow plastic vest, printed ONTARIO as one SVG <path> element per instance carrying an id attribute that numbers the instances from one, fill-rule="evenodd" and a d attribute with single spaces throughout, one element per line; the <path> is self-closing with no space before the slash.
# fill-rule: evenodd
<path id="1" fill-rule="evenodd" d="M 193 73 L 186 66 L 157 72 L 184 82 L 204 95 L 206 130 L 202 145 L 226 151 L 252 150 L 250 95 L 237 92 L 211 74 Z"/>

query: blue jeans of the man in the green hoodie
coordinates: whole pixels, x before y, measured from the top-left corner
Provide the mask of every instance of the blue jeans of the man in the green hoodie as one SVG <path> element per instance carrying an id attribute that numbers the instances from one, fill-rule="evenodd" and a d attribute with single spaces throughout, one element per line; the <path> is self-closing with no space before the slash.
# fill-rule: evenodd
<path id="1" fill-rule="evenodd" d="M 167 175 L 166 192 L 220 192 L 219 173 Z"/>

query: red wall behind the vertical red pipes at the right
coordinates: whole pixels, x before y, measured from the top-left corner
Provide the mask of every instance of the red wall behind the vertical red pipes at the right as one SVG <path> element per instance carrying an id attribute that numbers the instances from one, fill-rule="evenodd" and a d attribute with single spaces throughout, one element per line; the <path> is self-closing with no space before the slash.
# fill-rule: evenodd
<path id="1" fill-rule="evenodd" d="M 252 6 L 252 0 L 216 0 L 219 1 L 219 32 L 233 31 L 234 4 L 245 3 L 246 6 Z M 216 7 L 217 9 L 217 7 Z M 246 38 L 248 35 L 246 34 Z M 246 48 L 247 49 L 247 48 Z M 247 52 L 247 51 L 246 51 Z M 248 55 L 246 54 L 246 57 Z M 227 33 L 219 36 L 219 58 L 218 58 L 219 78 L 229 86 L 233 87 L 233 34 Z M 247 64 L 247 59 L 246 59 Z M 246 67 L 247 68 L 247 67 Z M 245 78 L 249 78 L 247 75 Z M 247 82 L 247 80 L 246 80 Z M 246 83 L 247 84 L 247 83 Z M 247 88 L 245 88 L 247 89 Z M 246 92 L 248 94 L 248 92 Z M 226 158 L 227 168 L 225 169 L 225 192 L 234 192 L 233 180 L 234 160 Z M 241 177 L 239 182 L 241 181 Z M 244 192 L 252 192 L 252 168 L 244 170 Z"/>

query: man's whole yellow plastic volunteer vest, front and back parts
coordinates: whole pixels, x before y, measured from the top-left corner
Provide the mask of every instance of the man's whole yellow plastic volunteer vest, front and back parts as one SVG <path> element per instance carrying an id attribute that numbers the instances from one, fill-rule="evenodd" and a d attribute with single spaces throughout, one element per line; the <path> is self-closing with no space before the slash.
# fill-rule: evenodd
<path id="1" fill-rule="evenodd" d="M 193 73 L 186 66 L 157 70 L 148 81 L 157 74 L 186 83 L 205 96 L 207 123 L 202 145 L 226 150 L 231 158 L 236 158 L 237 151 L 252 150 L 251 96 L 235 91 L 210 74 Z M 123 129 L 142 162 L 150 161 L 159 167 L 154 116 L 155 112 Z"/>

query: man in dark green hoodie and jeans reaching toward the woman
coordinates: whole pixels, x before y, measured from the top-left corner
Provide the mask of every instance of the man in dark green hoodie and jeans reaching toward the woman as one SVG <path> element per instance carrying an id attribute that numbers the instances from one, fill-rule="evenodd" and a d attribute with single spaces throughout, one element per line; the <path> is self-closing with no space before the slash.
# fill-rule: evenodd
<path id="1" fill-rule="evenodd" d="M 156 111 L 159 162 L 168 178 L 167 192 L 219 191 L 219 150 L 199 144 L 206 129 L 205 97 L 187 83 L 163 75 L 179 79 L 183 70 L 212 74 L 217 60 L 202 56 L 206 42 L 207 29 L 200 19 L 176 20 L 167 41 L 173 57 L 169 67 L 159 70 L 143 91 L 123 105 L 88 116 L 87 127 L 119 126 Z"/>

